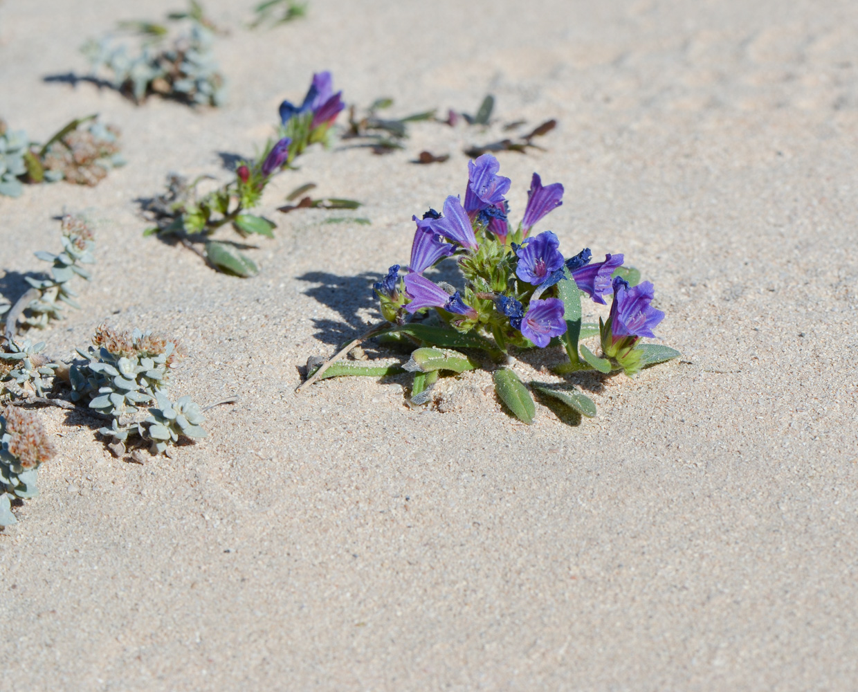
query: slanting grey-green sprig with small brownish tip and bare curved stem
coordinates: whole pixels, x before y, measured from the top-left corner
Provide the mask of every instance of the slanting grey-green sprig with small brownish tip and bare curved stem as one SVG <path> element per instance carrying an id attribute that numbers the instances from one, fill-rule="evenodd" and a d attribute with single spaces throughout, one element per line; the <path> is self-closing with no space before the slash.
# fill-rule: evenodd
<path id="1" fill-rule="evenodd" d="M 62 319 L 63 304 L 80 308 L 75 300 L 77 294 L 71 288 L 71 282 L 76 277 L 87 281 L 91 277 L 83 265 L 95 262 L 94 235 L 88 222 L 81 215 L 65 214 L 61 223 L 62 252 L 35 253 L 37 258 L 51 263 L 50 275 L 38 279 L 25 276 L 32 288 L 23 294 L 3 317 L 5 321 L 3 333 L 9 341 L 14 338 L 15 325 L 24 311 L 29 312 L 29 316 L 24 318 L 24 323 L 27 326 L 42 329 L 47 326 L 49 320 Z"/>

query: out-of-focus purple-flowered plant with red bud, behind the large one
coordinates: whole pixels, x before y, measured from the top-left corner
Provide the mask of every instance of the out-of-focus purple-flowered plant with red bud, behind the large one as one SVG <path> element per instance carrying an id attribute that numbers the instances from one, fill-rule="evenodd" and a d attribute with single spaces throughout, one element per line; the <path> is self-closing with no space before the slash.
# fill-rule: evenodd
<path id="1" fill-rule="evenodd" d="M 164 240 L 177 239 L 217 270 L 254 276 L 257 264 L 239 252 L 238 243 L 215 240 L 212 236 L 219 228 L 232 226 L 242 239 L 254 234 L 273 238 L 275 223 L 247 213 L 248 209 L 257 206 L 265 186 L 295 156 L 312 143 L 327 143 L 329 129 L 342 107 L 341 92 L 334 93 L 330 73 L 314 75 L 301 106 L 288 101 L 281 104 L 280 137 L 269 140 L 255 160 L 240 161 L 235 178 L 227 184 L 198 195 L 196 186 L 202 178 L 189 184 L 181 176 L 171 176 L 166 194 L 145 206 L 158 225 L 144 234 L 157 234 Z M 197 245 L 202 245 L 202 249 L 196 249 Z"/>

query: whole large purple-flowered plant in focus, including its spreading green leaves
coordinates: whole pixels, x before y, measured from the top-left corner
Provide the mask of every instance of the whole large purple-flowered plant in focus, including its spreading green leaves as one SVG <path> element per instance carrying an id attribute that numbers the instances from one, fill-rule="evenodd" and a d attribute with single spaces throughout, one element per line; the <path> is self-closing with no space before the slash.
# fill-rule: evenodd
<path id="1" fill-rule="evenodd" d="M 498 160 L 490 154 L 470 161 L 464 200 L 450 196 L 444 200 L 443 213 L 429 209 L 420 218 L 414 216 L 417 228 L 408 264 L 394 264 L 373 285 L 387 321 L 362 338 L 411 342 L 414 350 L 402 367 L 414 372 L 412 404 L 428 401 L 428 388 L 439 371 L 462 373 L 480 367 L 486 360 L 475 356 L 480 352 L 492 361 L 503 361 L 514 350 L 562 345 L 567 357 L 553 368 L 558 374 L 633 375 L 680 355 L 666 346 L 640 343 L 641 337 L 655 336 L 653 329 L 664 313 L 651 305 L 650 282 L 635 285 L 639 273 L 623 266 L 623 255 L 608 254 L 593 262 L 589 248 L 584 248 L 565 256 L 551 231 L 533 233 L 535 225 L 562 203 L 563 185 L 543 185 L 534 173 L 522 221 L 514 226 L 505 197 L 511 181 L 498 170 Z M 425 276 L 426 270 L 448 258 L 462 272 L 462 288 Z M 612 300 L 607 321 L 582 324 L 582 294 L 601 305 Z M 414 321 L 427 310 L 433 311 L 433 318 Z M 601 355 L 579 343 L 597 334 Z M 301 386 L 335 375 L 402 372 L 396 366 L 382 372 L 363 361 L 334 362 L 345 352 L 309 372 L 311 377 Z M 498 397 L 523 422 L 532 422 L 535 404 L 528 388 L 511 367 L 492 370 Z M 531 382 L 531 389 L 583 416 L 595 416 L 593 402 L 574 388 Z"/>

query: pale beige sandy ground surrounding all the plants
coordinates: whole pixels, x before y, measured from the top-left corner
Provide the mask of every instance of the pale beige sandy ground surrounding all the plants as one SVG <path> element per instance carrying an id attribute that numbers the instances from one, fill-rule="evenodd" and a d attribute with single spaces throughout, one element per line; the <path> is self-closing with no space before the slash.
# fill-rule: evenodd
<path id="1" fill-rule="evenodd" d="M 251 4 L 206 6 L 238 27 Z M 216 112 L 43 81 L 82 74 L 78 46 L 115 21 L 178 6 L 0 3 L 0 116 L 39 138 L 100 112 L 129 161 L 0 197 L 0 291 L 57 246 L 53 215 L 88 209 L 83 309 L 34 336 L 69 357 L 104 319 L 168 331 L 191 349 L 172 392 L 241 398 L 146 465 L 43 413 L 59 455 L 0 533 L 0 689 L 855 689 L 854 4 L 311 0 L 219 39 Z M 142 238 L 136 198 L 168 171 L 226 179 L 218 153 L 252 155 L 321 69 L 397 114 L 491 91 L 498 124 L 313 149 L 266 192 L 279 228 L 251 280 Z M 308 355 L 378 319 L 367 286 L 408 257 L 411 215 L 463 193 L 462 147 L 549 117 L 547 151 L 500 155 L 513 216 L 530 173 L 563 182 L 541 228 L 567 254 L 625 252 L 682 361 L 579 380 L 599 416 L 578 426 L 542 405 L 517 423 L 483 373 L 424 411 L 402 378 L 296 395 Z M 421 149 L 452 156 L 408 163 Z M 372 224 L 278 215 L 306 181 Z"/>

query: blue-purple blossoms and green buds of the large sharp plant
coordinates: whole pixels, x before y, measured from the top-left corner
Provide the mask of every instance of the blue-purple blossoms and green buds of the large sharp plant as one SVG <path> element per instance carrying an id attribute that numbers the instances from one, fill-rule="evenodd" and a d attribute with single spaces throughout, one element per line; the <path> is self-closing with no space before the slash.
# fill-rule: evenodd
<path id="1" fill-rule="evenodd" d="M 584 248 L 566 257 L 552 231 L 531 235 L 535 225 L 563 203 L 563 185 L 543 185 L 534 173 L 522 221 L 513 229 L 505 197 L 511 181 L 499 168 L 490 154 L 470 161 L 463 203 L 450 195 L 442 213 L 430 209 L 413 217 L 417 228 L 408 265 L 395 264 L 373 286 L 385 319 L 402 325 L 414 313 L 435 308 L 457 331 L 485 332 L 500 349 L 508 344 L 545 348 L 567 331 L 557 284 L 573 280 L 596 303 L 607 305 L 606 299 L 612 299 L 607 331 L 602 333 L 606 357 L 619 362 L 639 337 L 653 337 L 664 313 L 650 305 L 650 282 L 631 287 L 617 276 L 623 255 L 607 254 L 603 261 L 592 262 L 589 248 Z M 424 276 L 446 258 L 457 261 L 464 288 L 456 290 Z"/>

